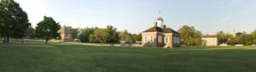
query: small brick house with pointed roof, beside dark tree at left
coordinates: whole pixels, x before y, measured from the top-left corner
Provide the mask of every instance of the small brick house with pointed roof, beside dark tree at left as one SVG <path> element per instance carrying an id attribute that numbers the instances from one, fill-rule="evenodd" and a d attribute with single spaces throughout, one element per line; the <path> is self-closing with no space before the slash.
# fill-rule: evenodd
<path id="1" fill-rule="evenodd" d="M 60 33 L 61 42 L 72 42 L 71 30 L 68 30 L 66 25 L 62 26 L 58 33 Z"/>

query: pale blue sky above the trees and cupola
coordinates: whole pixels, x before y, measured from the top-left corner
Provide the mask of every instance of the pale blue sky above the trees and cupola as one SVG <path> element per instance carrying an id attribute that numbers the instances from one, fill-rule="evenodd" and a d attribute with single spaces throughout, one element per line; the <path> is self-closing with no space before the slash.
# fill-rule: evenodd
<path id="1" fill-rule="evenodd" d="M 256 0 L 16 0 L 35 26 L 43 16 L 84 28 L 113 25 L 139 33 L 160 16 L 178 30 L 193 25 L 203 34 L 256 29 Z"/>

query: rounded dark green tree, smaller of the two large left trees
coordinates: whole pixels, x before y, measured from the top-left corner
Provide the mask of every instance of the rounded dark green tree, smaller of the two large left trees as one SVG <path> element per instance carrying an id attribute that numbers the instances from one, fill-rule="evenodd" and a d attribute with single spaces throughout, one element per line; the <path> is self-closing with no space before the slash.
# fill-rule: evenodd
<path id="1" fill-rule="evenodd" d="M 49 39 L 55 39 L 60 36 L 58 33 L 60 29 L 61 25 L 55 22 L 53 18 L 44 16 L 44 20 L 40 21 L 36 27 L 36 36 L 45 39 L 45 43 L 48 43 Z"/>

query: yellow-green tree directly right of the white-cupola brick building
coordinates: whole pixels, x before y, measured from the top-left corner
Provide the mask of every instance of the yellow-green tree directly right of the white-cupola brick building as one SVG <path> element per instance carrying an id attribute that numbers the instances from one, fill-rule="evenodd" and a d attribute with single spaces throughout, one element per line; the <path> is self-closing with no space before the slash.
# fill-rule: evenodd
<path id="1" fill-rule="evenodd" d="M 181 34 L 182 42 L 188 46 L 199 46 L 201 45 L 201 31 L 195 30 L 195 27 L 189 25 L 183 25 L 182 28 L 178 30 Z"/>

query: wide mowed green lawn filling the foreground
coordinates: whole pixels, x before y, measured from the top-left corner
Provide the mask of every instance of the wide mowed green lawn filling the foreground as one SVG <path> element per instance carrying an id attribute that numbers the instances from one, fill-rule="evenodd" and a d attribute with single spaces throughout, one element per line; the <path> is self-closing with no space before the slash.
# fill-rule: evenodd
<path id="1" fill-rule="evenodd" d="M 256 47 L 0 44 L 0 72 L 256 72 Z"/>

